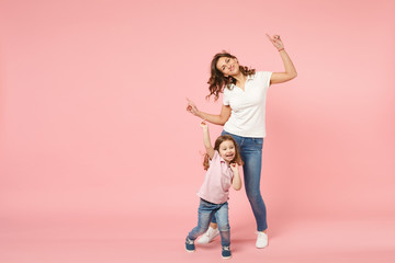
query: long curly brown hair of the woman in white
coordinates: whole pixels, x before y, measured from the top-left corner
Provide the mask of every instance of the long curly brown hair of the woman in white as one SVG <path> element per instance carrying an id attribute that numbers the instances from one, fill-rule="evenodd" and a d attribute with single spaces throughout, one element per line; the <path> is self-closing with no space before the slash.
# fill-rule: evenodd
<path id="1" fill-rule="evenodd" d="M 218 62 L 218 59 L 222 57 L 236 58 L 234 55 L 225 50 L 214 55 L 213 60 L 211 62 L 211 77 L 207 81 L 207 83 L 210 84 L 208 87 L 210 94 L 206 95 L 207 100 L 210 99 L 211 95 L 214 95 L 214 101 L 218 100 L 219 93 L 224 92 L 225 87 L 230 89 L 230 85 L 236 83 L 235 78 L 232 78 L 230 76 L 225 77 L 223 72 L 221 72 L 217 69 L 216 65 Z M 250 76 L 256 73 L 255 69 L 249 69 L 248 67 L 241 65 L 239 66 L 239 69 L 244 76 Z"/>

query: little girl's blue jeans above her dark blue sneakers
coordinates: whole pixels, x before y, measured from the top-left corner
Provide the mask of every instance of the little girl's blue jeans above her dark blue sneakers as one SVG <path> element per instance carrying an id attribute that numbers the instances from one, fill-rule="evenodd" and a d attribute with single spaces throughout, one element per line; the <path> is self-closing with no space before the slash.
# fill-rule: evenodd
<path id="1" fill-rule="evenodd" d="M 189 232 L 188 238 L 190 240 L 195 240 L 199 236 L 203 235 L 210 226 L 212 218 L 217 219 L 218 230 L 221 233 L 221 245 L 230 245 L 230 227 L 228 219 L 228 203 L 224 204 L 213 204 L 201 198 L 199 209 L 199 220 L 198 227 L 193 228 Z"/>

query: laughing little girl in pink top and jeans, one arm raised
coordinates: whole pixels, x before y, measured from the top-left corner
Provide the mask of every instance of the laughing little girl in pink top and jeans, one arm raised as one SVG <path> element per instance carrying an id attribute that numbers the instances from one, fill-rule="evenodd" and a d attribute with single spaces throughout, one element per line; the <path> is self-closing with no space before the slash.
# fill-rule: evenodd
<path id="1" fill-rule="evenodd" d="M 235 139 L 229 135 L 219 136 L 214 148 L 211 145 L 208 126 L 203 121 L 203 141 L 206 148 L 203 167 L 207 170 L 203 185 L 198 192 L 200 199 L 198 227 L 189 232 L 185 240 L 188 252 L 195 250 L 194 240 L 208 229 L 215 215 L 221 233 L 222 256 L 230 259 L 230 227 L 228 220 L 229 188 L 241 188 L 238 165 L 242 164 Z"/>

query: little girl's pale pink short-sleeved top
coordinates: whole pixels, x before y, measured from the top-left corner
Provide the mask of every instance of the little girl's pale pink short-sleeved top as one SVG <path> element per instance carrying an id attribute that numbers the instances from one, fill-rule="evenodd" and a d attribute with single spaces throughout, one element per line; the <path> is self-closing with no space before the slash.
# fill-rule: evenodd
<path id="1" fill-rule="evenodd" d="M 233 175 L 225 160 L 219 156 L 218 151 L 215 151 L 198 196 L 214 204 L 227 202 Z"/>

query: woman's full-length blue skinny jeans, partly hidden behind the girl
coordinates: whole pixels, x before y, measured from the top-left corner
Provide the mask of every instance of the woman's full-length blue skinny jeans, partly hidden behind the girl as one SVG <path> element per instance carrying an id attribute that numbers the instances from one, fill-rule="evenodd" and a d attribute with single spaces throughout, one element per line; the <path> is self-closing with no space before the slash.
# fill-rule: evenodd
<path id="1" fill-rule="evenodd" d="M 244 161 L 242 172 L 247 197 L 257 221 L 257 230 L 263 231 L 268 228 L 267 209 L 260 193 L 263 138 L 241 137 L 225 130 L 222 135 L 230 135 L 237 142 Z M 212 222 L 216 222 L 216 218 L 213 218 Z"/>

